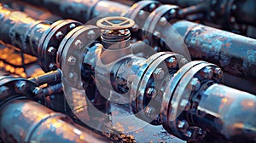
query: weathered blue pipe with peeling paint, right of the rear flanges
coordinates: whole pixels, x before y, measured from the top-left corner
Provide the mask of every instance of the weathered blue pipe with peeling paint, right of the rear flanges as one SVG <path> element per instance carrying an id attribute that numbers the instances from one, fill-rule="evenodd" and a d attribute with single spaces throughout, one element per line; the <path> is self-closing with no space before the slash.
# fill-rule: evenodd
<path id="1" fill-rule="evenodd" d="M 256 40 L 186 20 L 172 25 L 194 60 L 207 60 L 236 77 L 256 79 Z"/>

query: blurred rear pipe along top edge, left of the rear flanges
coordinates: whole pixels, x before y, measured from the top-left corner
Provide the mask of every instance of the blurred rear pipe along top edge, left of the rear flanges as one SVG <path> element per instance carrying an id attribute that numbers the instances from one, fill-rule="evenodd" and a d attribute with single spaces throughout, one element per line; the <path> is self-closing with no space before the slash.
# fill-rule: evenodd
<path id="1" fill-rule="evenodd" d="M 90 0 L 90 1 L 74 1 L 74 0 L 40 0 L 30 1 L 25 0 L 27 3 L 32 3 L 37 6 L 50 8 L 49 10 L 55 14 L 61 15 L 63 18 L 79 20 L 87 22 L 92 18 L 102 15 L 113 13 L 120 15 L 124 10 L 130 9 L 122 3 L 107 1 L 107 0 Z"/>

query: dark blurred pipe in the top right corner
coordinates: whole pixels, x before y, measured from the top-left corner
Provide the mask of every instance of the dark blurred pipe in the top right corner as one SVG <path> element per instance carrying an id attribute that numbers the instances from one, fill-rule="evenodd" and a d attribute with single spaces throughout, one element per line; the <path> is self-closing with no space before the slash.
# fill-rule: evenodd
<path id="1" fill-rule="evenodd" d="M 236 23 L 256 26 L 254 14 L 256 3 L 254 0 L 207 0 L 203 3 L 207 7 L 207 20 L 212 23 L 217 23 L 226 28 L 232 27 Z"/>

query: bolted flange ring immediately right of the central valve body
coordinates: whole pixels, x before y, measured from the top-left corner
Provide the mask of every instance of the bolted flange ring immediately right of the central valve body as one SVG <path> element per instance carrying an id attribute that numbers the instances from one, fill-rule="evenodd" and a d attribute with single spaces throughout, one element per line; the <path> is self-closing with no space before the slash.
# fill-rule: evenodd
<path id="1" fill-rule="evenodd" d="M 175 68 L 172 66 L 166 65 L 166 60 L 173 58 L 178 62 Z M 160 94 L 160 90 L 162 90 L 162 82 L 164 80 L 173 76 L 172 73 L 176 73 L 179 67 L 182 67 L 184 64 L 187 63 L 187 60 L 183 58 L 180 54 L 173 54 L 173 53 L 166 53 L 150 64 L 147 71 L 144 73 L 143 77 L 141 78 L 141 83 L 137 90 L 137 111 L 138 116 L 142 117 L 148 122 L 152 124 L 160 124 L 160 106 L 162 100 L 162 94 Z M 172 73 L 170 73 L 172 72 Z M 147 90 L 148 88 L 153 88 L 156 90 L 155 96 L 147 97 Z M 153 108 L 154 112 L 148 113 L 148 108 Z"/>

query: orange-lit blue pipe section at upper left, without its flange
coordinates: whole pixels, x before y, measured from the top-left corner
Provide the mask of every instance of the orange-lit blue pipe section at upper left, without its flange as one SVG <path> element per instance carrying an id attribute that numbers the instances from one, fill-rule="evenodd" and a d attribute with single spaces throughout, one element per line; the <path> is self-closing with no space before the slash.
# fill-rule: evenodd
<path id="1" fill-rule="evenodd" d="M 12 43 L 24 53 L 37 55 L 38 43 L 50 27 L 49 23 L 33 20 L 19 11 L 11 11 L 0 5 L 0 39 Z"/>

